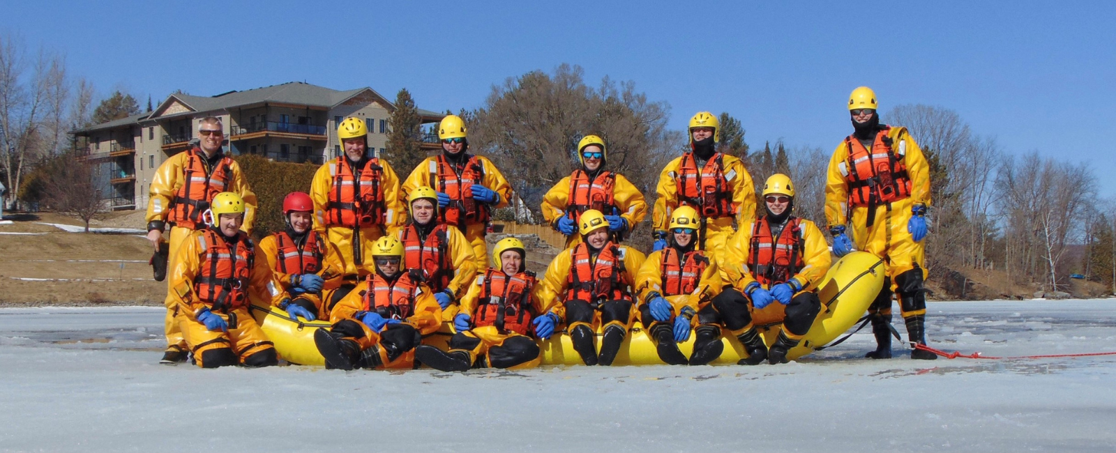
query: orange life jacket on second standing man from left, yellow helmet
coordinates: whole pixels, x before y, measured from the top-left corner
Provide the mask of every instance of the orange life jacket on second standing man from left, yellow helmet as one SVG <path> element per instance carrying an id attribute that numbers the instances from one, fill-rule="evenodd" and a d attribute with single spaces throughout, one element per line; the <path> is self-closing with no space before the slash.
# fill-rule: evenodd
<path id="1" fill-rule="evenodd" d="M 359 180 L 346 156 L 337 157 L 330 166 L 334 184 L 327 194 L 326 224 L 349 228 L 383 225 L 386 208 L 381 185 L 384 167 L 379 165 L 379 160 L 369 158 L 360 170 Z"/>

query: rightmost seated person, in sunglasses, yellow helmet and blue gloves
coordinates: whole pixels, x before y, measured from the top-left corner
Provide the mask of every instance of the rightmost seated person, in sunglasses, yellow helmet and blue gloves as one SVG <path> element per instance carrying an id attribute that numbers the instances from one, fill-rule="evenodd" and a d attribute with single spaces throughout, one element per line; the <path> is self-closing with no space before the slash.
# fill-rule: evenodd
<path id="1" fill-rule="evenodd" d="M 821 309 L 817 285 L 830 264 L 821 230 L 791 215 L 795 185 L 790 177 L 768 177 L 762 196 L 767 215 L 741 228 L 729 247 L 727 263 L 735 264 L 727 264 L 725 273 L 733 288 L 713 298 L 713 310 L 698 314 L 699 329 L 720 318 L 740 339 L 748 353 L 740 365 L 757 365 L 763 359 L 772 365 L 787 362 L 787 351 L 798 346 Z M 743 288 L 743 292 L 735 288 Z M 757 326 L 780 324 L 769 351 Z"/>

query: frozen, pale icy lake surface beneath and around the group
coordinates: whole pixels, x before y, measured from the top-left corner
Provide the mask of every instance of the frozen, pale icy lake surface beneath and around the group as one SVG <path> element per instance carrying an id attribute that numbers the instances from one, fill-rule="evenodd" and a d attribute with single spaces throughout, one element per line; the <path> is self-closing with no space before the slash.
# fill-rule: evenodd
<path id="1" fill-rule="evenodd" d="M 930 306 L 947 351 L 1116 351 L 1113 299 Z M 1116 356 L 870 360 L 866 328 L 779 366 L 202 370 L 162 321 L 0 309 L 0 451 L 1116 451 Z"/>

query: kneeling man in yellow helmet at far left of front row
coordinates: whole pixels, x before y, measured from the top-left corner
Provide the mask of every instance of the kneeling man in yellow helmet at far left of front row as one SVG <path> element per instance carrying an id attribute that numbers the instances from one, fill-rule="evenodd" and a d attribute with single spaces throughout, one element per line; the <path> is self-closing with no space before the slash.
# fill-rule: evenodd
<path id="1" fill-rule="evenodd" d="M 276 348 L 248 305 L 250 298 L 270 303 L 289 298 L 240 231 L 244 201 L 232 192 L 219 193 L 205 214 L 210 228 L 191 232 L 171 267 L 175 320 L 194 363 L 202 368 L 277 365 Z"/>

